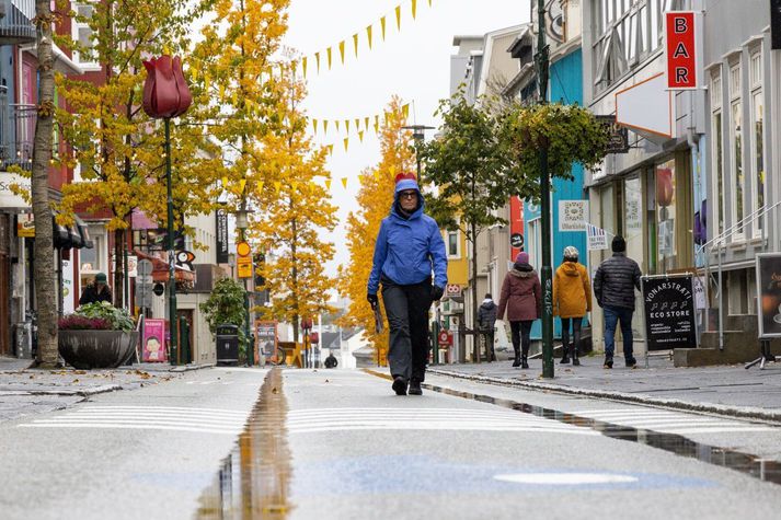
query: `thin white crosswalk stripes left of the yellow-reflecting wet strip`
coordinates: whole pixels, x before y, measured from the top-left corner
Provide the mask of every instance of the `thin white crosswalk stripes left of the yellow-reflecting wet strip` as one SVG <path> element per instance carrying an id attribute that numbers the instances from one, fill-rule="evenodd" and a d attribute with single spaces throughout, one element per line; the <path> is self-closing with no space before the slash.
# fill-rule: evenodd
<path id="1" fill-rule="evenodd" d="M 245 420 L 245 412 L 219 408 L 84 406 L 19 427 L 153 429 L 236 436 L 244 429 Z"/>

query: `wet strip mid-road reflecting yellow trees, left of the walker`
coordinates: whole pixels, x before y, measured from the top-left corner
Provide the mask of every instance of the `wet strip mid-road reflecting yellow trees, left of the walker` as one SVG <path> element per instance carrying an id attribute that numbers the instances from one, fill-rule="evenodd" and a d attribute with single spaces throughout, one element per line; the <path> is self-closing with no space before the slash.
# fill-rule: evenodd
<path id="1" fill-rule="evenodd" d="M 272 369 L 237 447 L 199 499 L 199 520 L 287 518 L 290 450 L 282 370 Z"/>

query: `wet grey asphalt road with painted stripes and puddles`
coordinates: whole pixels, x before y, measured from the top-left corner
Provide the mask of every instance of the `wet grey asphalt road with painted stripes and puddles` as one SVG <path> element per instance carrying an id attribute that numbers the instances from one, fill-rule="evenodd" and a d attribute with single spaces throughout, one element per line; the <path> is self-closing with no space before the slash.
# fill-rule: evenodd
<path id="1" fill-rule="evenodd" d="M 745 463 L 708 449 L 716 444 L 781 460 L 781 428 L 443 377 L 427 384 L 450 394 L 395 396 L 360 371 L 215 369 L 3 423 L 0 518 L 781 511 L 781 485 L 696 459 Z M 751 470 L 779 477 L 772 462 Z"/>

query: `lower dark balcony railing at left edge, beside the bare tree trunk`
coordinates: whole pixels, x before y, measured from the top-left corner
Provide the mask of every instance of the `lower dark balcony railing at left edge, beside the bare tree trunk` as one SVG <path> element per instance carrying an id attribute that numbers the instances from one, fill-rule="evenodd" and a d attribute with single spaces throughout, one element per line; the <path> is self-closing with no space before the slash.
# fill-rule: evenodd
<path id="1" fill-rule="evenodd" d="M 15 164 L 32 169 L 35 140 L 36 107 L 10 104 L 8 88 L 0 85 L 0 167 Z"/>

